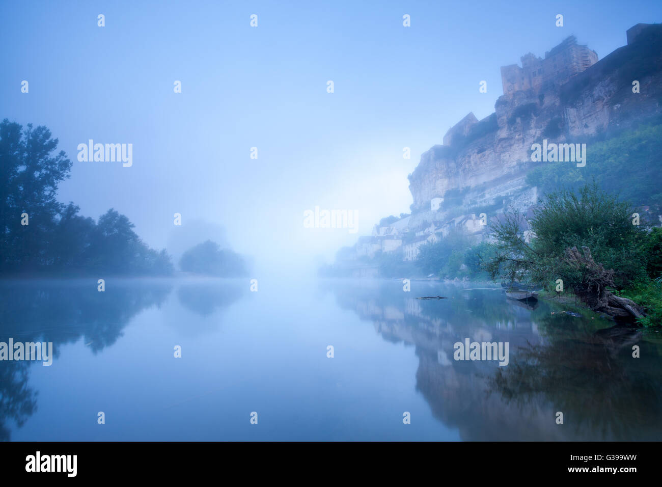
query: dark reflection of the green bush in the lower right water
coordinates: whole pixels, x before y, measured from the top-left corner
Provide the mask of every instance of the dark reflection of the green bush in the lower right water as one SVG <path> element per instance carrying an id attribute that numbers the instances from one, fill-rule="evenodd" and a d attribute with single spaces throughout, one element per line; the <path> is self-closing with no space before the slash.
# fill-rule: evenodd
<path id="1" fill-rule="evenodd" d="M 632 356 L 632 345 L 645 358 Z M 659 440 L 662 382 L 659 347 L 624 327 L 549 336 L 522 347 L 489 387 L 520 409 L 537 402 L 562 411 L 565 424 L 587 439 Z"/>

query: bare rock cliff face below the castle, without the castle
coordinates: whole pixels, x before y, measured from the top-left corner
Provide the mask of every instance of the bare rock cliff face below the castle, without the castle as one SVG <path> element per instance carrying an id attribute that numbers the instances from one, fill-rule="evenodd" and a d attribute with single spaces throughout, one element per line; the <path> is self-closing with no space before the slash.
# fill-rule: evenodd
<path id="1" fill-rule="evenodd" d="M 537 197 L 526 174 L 544 164 L 532 162 L 532 144 L 587 143 L 591 164 L 596 136 L 662 117 L 662 25 L 643 25 L 629 37 L 630 44 L 563 85 L 502 96 L 495 113 L 481 121 L 469 113 L 444 136 L 444 145 L 422 154 L 410 174 L 414 213 L 429 213 L 433 197 L 444 198 L 442 209 L 425 219 L 444 219 L 457 207 L 523 209 Z"/>

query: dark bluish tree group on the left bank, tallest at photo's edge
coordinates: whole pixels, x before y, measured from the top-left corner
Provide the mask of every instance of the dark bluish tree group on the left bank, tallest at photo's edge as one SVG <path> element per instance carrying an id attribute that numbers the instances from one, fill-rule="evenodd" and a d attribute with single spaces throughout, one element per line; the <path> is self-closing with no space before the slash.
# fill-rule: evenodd
<path id="1" fill-rule="evenodd" d="M 0 272 L 172 272 L 167 252 L 140 241 L 126 216 L 110 209 L 95 223 L 56 199 L 71 168 L 57 146 L 46 127 L 0 123 Z"/>

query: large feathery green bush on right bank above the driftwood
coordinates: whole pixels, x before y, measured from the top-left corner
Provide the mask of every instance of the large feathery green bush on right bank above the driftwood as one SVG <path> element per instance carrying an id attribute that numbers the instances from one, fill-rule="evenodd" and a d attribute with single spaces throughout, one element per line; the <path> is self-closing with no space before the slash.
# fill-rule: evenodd
<path id="1" fill-rule="evenodd" d="M 554 282 L 565 288 L 585 285 L 585 271 L 569 264 L 566 249 L 584 246 L 595 262 L 614 270 L 617 288 L 645 277 L 645 230 L 632 225 L 632 209 L 593 183 L 579 189 L 550 193 L 527 219 L 516 211 L 493 223 L 496 255 L 487 268 L 492 278 Z M 525 238 L 529 228 L 530 241 Z"/>

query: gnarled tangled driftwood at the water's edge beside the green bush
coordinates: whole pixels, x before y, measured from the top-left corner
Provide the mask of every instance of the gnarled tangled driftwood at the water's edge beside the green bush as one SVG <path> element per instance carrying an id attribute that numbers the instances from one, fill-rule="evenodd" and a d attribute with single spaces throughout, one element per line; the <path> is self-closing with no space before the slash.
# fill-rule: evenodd
<path id="1" fill-rule="evenodd" d="M 575 290 L 583 302 L 594 311 L 600 311 L 614 317 L 639 318 L 643 310 L 632 299 L 620 298 L 608 290 L 614 288 L 614 270 L 605 270 L 602 264 L 595 262 L 588 247 L 582 247 L 583 254 L 577 247 L 565 249 L 565 260 L 584 271 L 584 282 Z"/>

